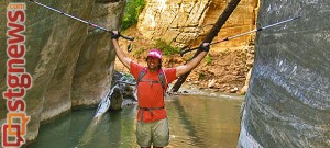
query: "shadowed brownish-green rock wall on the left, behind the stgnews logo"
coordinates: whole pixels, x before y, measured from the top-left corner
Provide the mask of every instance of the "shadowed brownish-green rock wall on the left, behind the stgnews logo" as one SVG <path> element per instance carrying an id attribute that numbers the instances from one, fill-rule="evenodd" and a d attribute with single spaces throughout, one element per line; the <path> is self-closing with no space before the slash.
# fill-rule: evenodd
<path id="1" fill-rule="evenodd" d="M 25 68 L 33 77 L 33 87 L 24 96 L 31 116 L 26 140 L 36 137 L 40 122 L 69 111 L 73 106 L 97 104 L 110 89 L 114 50 L 109 34 L 26 2 Z M 43 0 L 43 4 L 109 30 L 118 30 L 124 1 L 120 0 Z M 0 2 L 0 90 L 7 89 L 8 56 L 6 43 L 6 7 Z M 2 95 L 1 95 L 2 96 Z M 0 99 L 0 119 L 6 121 L 6 100 Z"/>

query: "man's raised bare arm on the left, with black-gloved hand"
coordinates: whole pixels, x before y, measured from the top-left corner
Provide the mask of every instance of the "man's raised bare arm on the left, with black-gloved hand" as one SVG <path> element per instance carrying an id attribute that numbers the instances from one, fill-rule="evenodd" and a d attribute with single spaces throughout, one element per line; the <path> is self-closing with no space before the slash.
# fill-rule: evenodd
<path id="1" fill-rule="evenodd" d="M 118 31 L 112 31 L 112 43 L 114 46 L 114 50 L 117 54 L 117 57 L 119 58 L 119 60 L 128 68 L 130 69 L 130 64 L 132 61 L 132 59 L 130 59 L 123 52 L 123 49 L 119 46 L 118 44 L 118 38 L 120 37 L 120 34 Z"/>

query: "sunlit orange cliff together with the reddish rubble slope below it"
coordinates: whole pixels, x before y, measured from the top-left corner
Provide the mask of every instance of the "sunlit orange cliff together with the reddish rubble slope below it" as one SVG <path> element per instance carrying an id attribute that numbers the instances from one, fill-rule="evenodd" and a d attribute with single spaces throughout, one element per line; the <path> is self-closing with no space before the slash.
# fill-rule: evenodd
<path id="1" fill-rule="evenodd" d="M 148 0 L 140 14 L 138 30 L 142 37 L 136 37 L 136 47 L 147 50 L 152 46 L 146 48 L 144 46 L 156 39 L 176 46 L 197 46 L 218 20 L 228 2 L 220 0 Z M 215 41 L 255 29 L 257 4 L 257 0 L 242 0 Z M 212 45 L 208 55 L 211 62 L 207 64 L 204 60 L 189 75 L 187 83 L 198 83 L 198 87 L 212 88 L 220 92 L 244 93 L 249 82 L 246 76 L 253 66 L 254 36 L 255 34 L 250 34 Z M 189 54 L 177 58 L 172 56 L 165 58 L 163 65 L 165 67 L 183 65 L 185 64 L 183 59 L 188 59 L 191 56 Z M 144 62 L 144 59 L 141 58 L 139 61 Z M 123 68 L 119 65 L 118 69 Z"/>

